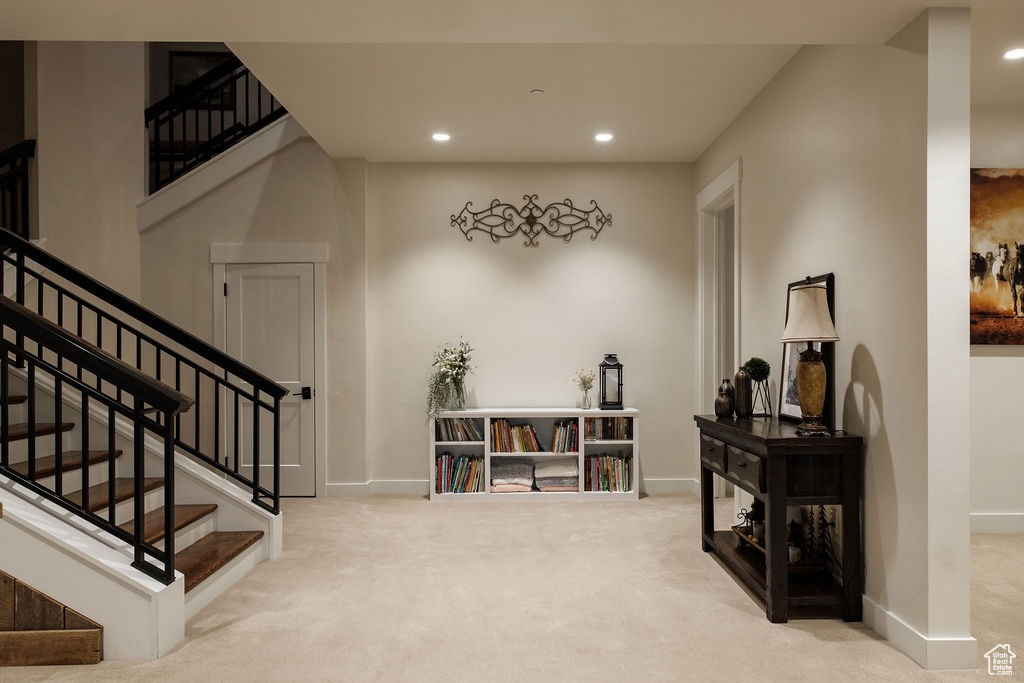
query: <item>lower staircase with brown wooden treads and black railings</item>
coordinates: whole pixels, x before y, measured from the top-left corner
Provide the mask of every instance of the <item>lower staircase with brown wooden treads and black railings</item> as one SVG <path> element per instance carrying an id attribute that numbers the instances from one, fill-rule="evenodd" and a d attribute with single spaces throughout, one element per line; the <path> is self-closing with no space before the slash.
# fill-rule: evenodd
<path id="1" fill-rule="evenodd" d="M 5 230 L 0 247 L 0 570 L 102 624 L 108 658 L 160 656 L 281 552 L 285 392 Z"/>

